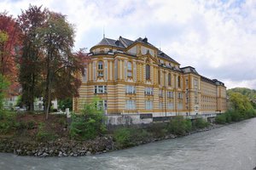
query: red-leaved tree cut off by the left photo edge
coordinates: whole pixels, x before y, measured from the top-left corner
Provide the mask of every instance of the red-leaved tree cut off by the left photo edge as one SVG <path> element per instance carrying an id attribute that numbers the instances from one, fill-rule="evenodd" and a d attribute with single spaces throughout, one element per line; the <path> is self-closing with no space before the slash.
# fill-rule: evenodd
<path id="1" fill-rule="evenodd" d="M 15 56 L 20 46 L 19 36 L 20 29 L 12 15 L 0 13 L 0 73 L 11 83 L 9 93 L 15 93 L 18 84 Z"/>

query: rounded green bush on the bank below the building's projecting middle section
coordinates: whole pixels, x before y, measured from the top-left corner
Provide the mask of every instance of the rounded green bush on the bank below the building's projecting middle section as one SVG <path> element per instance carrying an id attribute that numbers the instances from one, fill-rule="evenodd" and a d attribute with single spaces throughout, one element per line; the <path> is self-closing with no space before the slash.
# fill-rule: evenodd
<path id="1" fill-rule="evenodd" d="M 191 127 L 189 119 L 184 119 L 183 116 L 176 116 L 168 123 L 167 130 L 169 133 L 184 135 L 191 131 Z"/>

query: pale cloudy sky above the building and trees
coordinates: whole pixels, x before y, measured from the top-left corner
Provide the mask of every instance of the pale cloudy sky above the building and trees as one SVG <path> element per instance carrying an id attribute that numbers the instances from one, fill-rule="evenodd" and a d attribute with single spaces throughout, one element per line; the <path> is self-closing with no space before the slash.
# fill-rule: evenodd
<path id="1" fill-rule="evenodd" d="M 256 0 L 1 0 L 16 17 L 32 5 L 67 15 L 75 49 L 103 37 L 148 42 L 227 88 L 256 89 Z"/>

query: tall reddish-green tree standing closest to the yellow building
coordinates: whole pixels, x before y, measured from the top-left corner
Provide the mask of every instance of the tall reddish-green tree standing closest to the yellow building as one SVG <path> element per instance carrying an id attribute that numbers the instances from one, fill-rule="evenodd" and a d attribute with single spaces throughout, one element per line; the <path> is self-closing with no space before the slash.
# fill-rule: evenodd
<path id="1" fill-rule="evenodd" d="M 74 29 L 62 14 L 49 12 L 46 23 L 38 29 L 44 48 L 44 112 L 48 119 L 51 99 L 77 96 L 83 70 L 81 60 L 72 53 Z"/>

